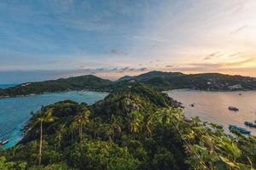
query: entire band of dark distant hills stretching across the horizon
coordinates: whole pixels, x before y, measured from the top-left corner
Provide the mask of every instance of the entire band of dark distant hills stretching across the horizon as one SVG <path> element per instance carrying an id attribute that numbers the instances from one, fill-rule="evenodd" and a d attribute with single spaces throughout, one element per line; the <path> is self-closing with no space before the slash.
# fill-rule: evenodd
<path id="1" fill-rule="evenodd" d="M 255 77 L 230 76 L 219 73 L 183 74 L 181 72 L 150 71 L 135 77 L 121 77 L 115 82 L 92 75 L 60 78 L 44 82 L 26 82 L 12 88 L 0 89 L 0 97 L 69 90 L 111 92 L 114 89 L 125 87 L 128 82 L 148 84 L 161 91 L 181 88 L 207 91 L 256 90 Z"/>

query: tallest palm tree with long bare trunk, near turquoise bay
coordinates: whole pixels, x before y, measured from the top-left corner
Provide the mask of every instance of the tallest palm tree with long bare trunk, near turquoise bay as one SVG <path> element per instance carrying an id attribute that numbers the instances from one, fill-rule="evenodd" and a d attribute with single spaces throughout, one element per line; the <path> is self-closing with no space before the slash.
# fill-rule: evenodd
<path id="1" fill-rule="evenodd" d="M 42 107 L 41 111 L 38 113 L 36 124 L 40 123 L 40 142 L 39 142 L 39 155 L 38 155 L 38 164 L 41 165 L 42 157 L 42 146 L 43 146 L 43 123 L 44 122 L 54 122 L 55 117 L 52 116 L 53 109 L 44 111 Z"/>

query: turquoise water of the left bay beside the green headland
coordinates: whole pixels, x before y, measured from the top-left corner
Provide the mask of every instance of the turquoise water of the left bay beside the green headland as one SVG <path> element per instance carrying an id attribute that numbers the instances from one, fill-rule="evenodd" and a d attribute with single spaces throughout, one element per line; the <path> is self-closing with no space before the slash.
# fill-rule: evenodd
<path id="1" fill-rule="evenodd" d="M 93 104 L 106 95 L 108 93 L 71 91 L 0 99 L 0 139 L 9 139 L 9 144 L 4 145 L 5 148 L 19 142 L 22 138 L 20 129 L 29 120 L 30 112 L 38 111 L 41 105 L 49 105 L 66 99 Z"/>

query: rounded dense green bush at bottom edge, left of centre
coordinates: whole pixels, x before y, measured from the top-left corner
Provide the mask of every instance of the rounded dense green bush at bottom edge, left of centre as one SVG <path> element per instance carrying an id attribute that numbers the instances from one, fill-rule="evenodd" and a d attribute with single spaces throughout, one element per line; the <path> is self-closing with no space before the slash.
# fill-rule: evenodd
<path id="1" fill-rule="evenodd" d="M 99 140 L 73 144 L 67 155 L 79 169 L 135 169 L 138 164 L 127 148 Z"/>

